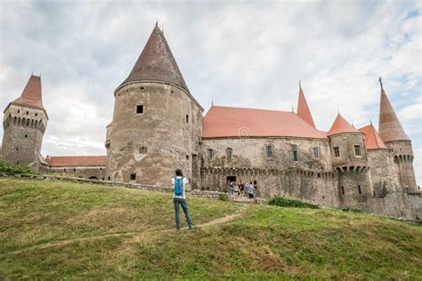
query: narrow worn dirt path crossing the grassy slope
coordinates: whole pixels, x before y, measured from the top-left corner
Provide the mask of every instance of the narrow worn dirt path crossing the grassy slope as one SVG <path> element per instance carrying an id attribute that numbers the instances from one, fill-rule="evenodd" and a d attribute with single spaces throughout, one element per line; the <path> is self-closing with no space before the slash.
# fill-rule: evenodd
<path id="1" fill-rule="evenodd" d="M 241 215 L 241 213 L 233 213 L 233 214 L 229 214 L 229 215 L 225 215 L 221 218 L 217 218 L 213 221 L 208 221 L 202 224 L 198 224 L 194 226 L 195 228 L 203 228 L 203 227 L 208 227 L 208 226 L 213 226 L 216 224 L 222 224 L 224 222 L 227 221 L 232 221 L 235 218 L 239 217 Z M 183 228 L 183 229 L 188 229 L 188 228 Z M 11 252 L 11 253 L 4 253 L 4 254 L 0 254 L 0 257 L 4 257 L 4 256 L 8 256 L 8 255 L 13 255 L 13 254 L 18 254 L 18 253 L 26 253 L 26 252 L 30 252 L 30 251 L 34 251 L 34 250 L 43 250 L 43 249 L 47 249 L 47 248 L 51 248 L 51 247 L 55 247 L 55 246 L 63 246 L 63 245 L 69 245 L 72 243 L 77 243 L 77 242 L 84 242 L 84 241 L 91 241 L 91 240 L 95 240 L 95 239 L 102 239 L 102 238 L 107 238 L 107 237 L 133 237 L 134 235 L 143 235 L 143 234 L 152 234 L 152 233 L 166 233 L 166 232 L 171 232 L 171 231 L 175 231 L 174 229 L 161 229 L 161 230 L 150 230 L 150 231 L 135 231 L 135 232 L 120 232 L 120 233 L 110 233 L 110 234 L 104 234 L 104 235 L 100 235 L 100 236 L 95 236 L 95 237 L 81 237 L 81 238 L 74 238 L 74 239 L 67 239 L 67 240 L 61 240 L 61 241 L 57 241 L 57 242 L 51 242 L 51 243 L 46 243 L 46 244 L 42 244 L 42 245 L 33 245 L 30 246 L 28 248 L 24 248 L 21 249 L 19 251 L 15 251 L 15 252 Z"/>

